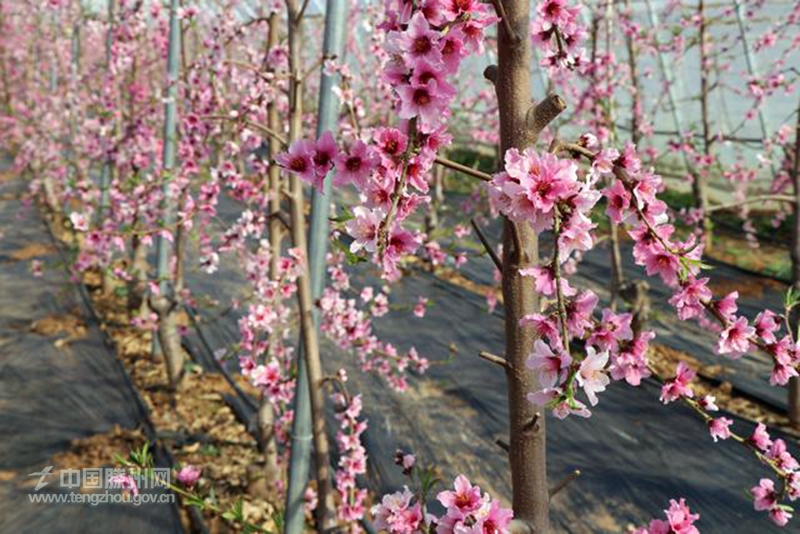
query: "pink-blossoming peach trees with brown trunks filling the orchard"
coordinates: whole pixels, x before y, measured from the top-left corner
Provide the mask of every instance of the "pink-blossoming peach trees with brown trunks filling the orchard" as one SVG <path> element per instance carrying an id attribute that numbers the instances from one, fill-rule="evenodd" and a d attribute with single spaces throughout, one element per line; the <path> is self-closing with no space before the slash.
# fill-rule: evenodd
<path id="1" fill-rule="evenodd" d="M 201 8 L 174 0 L 168 7 L 119 0 L 110 2 L 106 13 L 57 0 L 0 7 L 2 130 L 16 168 L 30 177 L 31 199 L 79 236 L 71 268 L 102 272 L 108 291 L 125 286 L 133 321 L 157 334 L 154 351 L 163 353 L 170 385 L 177 389 L 184 362 L 176 317 L 195 300 L 184 276 L 191 258 L 187 250 L 196 245 L 195 260 L 209 274 L 217 271 L 221 256 L 239 262 L 252 294 L 233 349 L 242 373 L 262 392 L 260 447 L 272 481 L 283 480 L 290 464 L 295 474 L 298 462 L 308 465 L 291 439 L 297 435 L 293 422 L 302 419 L 295 417 L 301 411 L 296 398 L 308 387 L 315 528 L 338 523 L 359 529 L 367 515 L 367 492 L 359 484 L 366 472 L 360 397 L 348 393 L 342 372 L 322 374 L 318 336 L 334 340 L 365 372 L 379 374 L 399 391 L 409 374 L 425 371 L 426 358 L 413 347 L 401 350 L 381 341 L 372 319 L 390 312 L 388 286 L 402 278 L 409 257 L 441 263 L 450 253 L 456 264 L 464 260 L 419 224 L 417 215 L 437 203 L 439 167 L 474 180 L 474 209 L 503 220 L 502 244 L 482 241 L 502 287 L 506 352 L 484 357 L 507 376 L 513 510 L 461 475 L 454 489 L 437 495 L 444 514 L 431 515 L 428 471 L 404 454 L 398 462 L 419 491 L 384 497 L 372 511 L 377 527 L 547 531 L 544 410 L 559 418 L 588 417 L 612 380 L 638 386 L 655 374 L 647 361 L 655 334 L 635 324 L 631 313 L 614 306 L 598 309 L 596 294 L 568 280 L 576 260 L 597 243 L 598 216 L 611 221 L 612 235 L 627 232 L 635 262 L 673 289 L 669 303 L 681 320 L 717 332 L 719 354 L 761 352 L 774 363 L 774 385 L 798 375 L 796 294 L 787 295 L 783 310 L 764 310 L 753 321 L 737 313 L 736 293 L 715 297 L 702 271 L 709 226 L 688 233 L 676 229 L 675 214 L 657 197 L 664 183 L 650 166 L 658 159 L 656 145 L 643 155 L 637 149 L 653 133 L 652 115 L 643 105 L 636 54 L 622 62 L 612 43 L 622 39 L 629 51 L 649 50 L 652 57 L 665 46 L 680 53 L 678 39 L 669 45 L 658 41 L 658 31 L 671 27 L 644 31 L 630 12 L 615 14 L 606 4 L 591 6 L 593 18 L 584 22 L 579 8 L 563 0 L 534 6 L 532 23 L 531 6 L 519 0 L 357 7 L 351 6 L 346 21 L 358 29 L 350 32 L 346 54 L 309 44 L 321 23 L 309 13 L 308 2 L 295 0 L 259 5 L 247 18 L 242 10 L 252 6 L 237 2 Z M 676 25 L 690 35 L 695 27 L 703 33 L 702 9 L 692 24 Z M 750 80 L 751 93 L 766 88 L 754 110 L 765 92 L 791 90 L 789 81 L 773 78 L 789 74 L 784 71 L 798 46 L 792 21 L 799 16 L 794 9 L 788 21 L 770 29 L 772 38 L 759 39 L 761 46 L 774 36 L 793 44 L 774 73 Z M 698 42 L 701 50 L 708 46 L 704 37 Z M 542 67 L 537 69 L 534 53 L 549 75 L 550 92 L 538 103 L 531 74 Z M 496 58 L 496 65 L 481 79 L 471 71 L 485 57 Z M 315 114 L 304 109 L 320 71 L 323 87 L 334 81 L 323 94 L 334 93 L 341 103 L 334 124 L 322 131 L 322 120 L 317 124 Z M 626 73 L 623 84 L 615 82 L 617 72 Z M 477 84 L 487 89 L 470 90 Z M 619 87 L 641 98 L 633 99 L 629 117 L 637 144 L 620 141 Z M 701 96 L 708 93 L 703 89 Z M 552 126 L 570 108 L 575 111 L 569 122 L 586 133 L 565 140 Z M 754 112 L 750 119 L 755 117 Z M 316 134 L 309 124 L 318 126 Z M 676 148 L 687 156 L 687 174 L 696 184 L 709 176 L 709 168 L 726 167 L 709 157 L 713 136 L 704 127 L 703 154 L 691 141 Z M 777 145 L 791 146 L 785 129 L 776 136 L 765 139 L 772 147 L 768 154 L 776 154 Z M 485 174 L 447 158 L 448 147 L 473 139 L 497 147 L 500 172 Z M 773 191 L 780 201 L 786 184 L 798 180 L 800 158 L 787 154 Z M 702 223 L 710 206 L 703 187 L 695 191 L 702 211 L 693 218 Z M 330 231 L 323 228 L 320 234 L 316 227 L 308 235 L 309 193 L 312 221 L 315 215 L 328 219 L 334 197 L 355 200 L 337 210 Z M 240 208 L 235 221 L 220 220 L 223 194 Z M 540 236 L 553 240 L 552 257 L 540 258 Z M 153 247 L 156 266 L 148 264 Z M 380 270 L 387 287 L 356 292 L 349 264 L 364 260 Z M 325 271 L 323 289 L 319 273 Z M 621 284 L 619 277 L 616 283 Z M 415 313 L 424 315 L 424 299 Z M 300 350 L 292 339 L 298 323 Z M 296 380 L 300 362 L 308 386 Z M 747 436 L 734 432 L 730 419 L 715 416 L 713 397 L 694 395 L 694 374 L 681 363 L 675 376 L 656 376 L 663 383 L 661 400 L 689 405 L 715 441 L 734 440 L 764 464 L 769 477 L 752 488 L 754 506 L 786 524 L 792 513 L 787 501 L 800 494 L 797 461 L 763 425 Z M 323 386 L 329 382 L 336 387 L 326 400 Z M 341 423 L 333 476 L 327 402 L 337 407 Z M 306 481 L 300 478 L 302 498 Z M 302 529 L 302 510 L 299 516 L 291 513 L 299 509 L 291 475 L 287 494 L 287 529 Z M 697 515 L 682 500 L 673 501 L 666 513 L 666 520 L 642 530 L 694 531 Z M 299 525 L 292 520 L 297 517 Z"/>

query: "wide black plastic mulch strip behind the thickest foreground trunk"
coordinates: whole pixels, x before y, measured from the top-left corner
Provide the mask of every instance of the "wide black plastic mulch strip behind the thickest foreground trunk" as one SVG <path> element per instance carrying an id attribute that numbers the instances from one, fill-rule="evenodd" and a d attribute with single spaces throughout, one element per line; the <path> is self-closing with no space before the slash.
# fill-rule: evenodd
<path id="1" fill-rule="evenodd" d="M 226 209 L 223 202 L 223 218 Z M 602 265 L 602 259 L 598 264 Z M 586 265 L 591 264 L 585 263 L 582 270 L 587 270 Z M 480 261 L 471 266 L 481 267 Z M 490 277 L 491 267 L 486 267 L 485 276 Z M 375 283 L 368 275 L 356 278 L 357 284 L 359 280 Z M 605 280 L 601 273 L 598 278 Z M 195 296 L 218 299 L 222 308 L 231 295 L 247 293 L 241 273 L 231 261 L 223 262 L 212 277 L 189 268 L 187 279 Z M 597 282 L 594 285 L 599 287 Z M 432 360 L 446 360 L 451 343 L 458 347 L 458 354 L 450 363 L 434 365 L 425 376 L 412 379 L 406 393 L 393 392 L 377 377 L 359 371 L 352 356 L 323 343 L 326 370 L 346 368 L 351 391 L 364 396 L 364 414 L 370 421 L 364 437 L 370 455 L 368 484 L 381 493 L 402 488 L 406 480 L 392 457 L 397 448 L 403 448 L 416 453 L 419 461 L 439 466 L 446 481 L 463 472 L 507 500 L 511 494 L 508 463 L 495 444 L 498 438 L 507 440 L 505 378 L 494 365 L 477 357 L 479 350 L 502 350 L 502 309 L 487 315 L 480 296 L 424 273 L 404 279 L 393 300 L 413 304 L 418 296 L 434 303 L 427 316 L 418 319 L 410 312 L 400 312 L 390 319 L 378 319 L 381 338 L 401 350 L 414 345 Z M 200 310 L 207 321 L 202 326 L 203 337 L 212 351 L 238 337 L 236 321 L 241 311 L 222 316 L 218 312 Z M 680 328 L 664 328 L 661 342 L 669 345 L 676 342 L 674 336 L 686 335 L 683 325 Z M 187 341 L 200 350 L 195 332 Z M 683 341 L 679 338 L 677 343 Z M 715 444 L 694 414 L 678 403 L 662 406 L 658 395 L 653 382 L 640 388 L 613 384 L 601 395 L 600 405 L 588 420 L 557 421 L 548 416 L 552 482 L 573 469 L 583 473 L 554 499 L 555 529 L 624 531 L 629 525 L 661 517 L 670 498 L 683 496 L 701 514 L 703 532 L 781 531 L 763 513 L 753 510 L 745 494 L 770 471 L 733 442 Z M 733 418 L 735 430 L 742 434 L 749 434 L 754 426 L 728 413 L 719 415 Z M 797 451 L 792 438 L 772 432 Z"/>

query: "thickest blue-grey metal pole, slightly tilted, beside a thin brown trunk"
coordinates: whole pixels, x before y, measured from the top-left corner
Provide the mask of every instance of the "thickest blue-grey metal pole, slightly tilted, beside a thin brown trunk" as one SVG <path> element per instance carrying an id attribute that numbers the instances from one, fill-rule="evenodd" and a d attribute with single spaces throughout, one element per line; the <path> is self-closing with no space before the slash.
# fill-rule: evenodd
<path id="1" fill-rule="evenodd" d="M 323 54 L 341 60 L 344 55 L 344 30 L 346 26 L 346 0 L 328 0 L 325 14 L 325 38 Z M 317 137 L 324 132 L 335 132 L 339 118 L 339 99 L 334 88 L 338 75 L 329 76 L 322 69 L 317 119 Z M 323 191 L 314 189 L 311 197 L 311 221 L 308 236 L 308 265 L 311 278 L 311 294 L 316 302 L 322 296 L 325 285 L 325 256 L 329 234 L 329 211 L 331 204 L 331 182 L 323 182 Z M 319 312 L 313 310 L 314 326 L 319 331 Z M 300 351 L 305 350 L 300 347 Z M 286 493 L 286 533 L 303 532 L 305 517 L 303 505 L 305 488 L 311 469 L 311 402 L 309 397 L 308 369 L 305 358 L 298 354 L 297 386 L 295 389 L 294 421 L 292 423 L 292 453 L 289 462 L 289 488 Z M 320 502 L 318 506 L 325 506 Z"/>

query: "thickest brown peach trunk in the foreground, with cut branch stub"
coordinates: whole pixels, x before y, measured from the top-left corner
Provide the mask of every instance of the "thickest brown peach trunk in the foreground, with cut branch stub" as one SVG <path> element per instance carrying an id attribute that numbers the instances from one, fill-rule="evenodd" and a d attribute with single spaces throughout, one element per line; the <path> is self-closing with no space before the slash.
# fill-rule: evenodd
<path id="1" fill-rule="evenodd" d="M 516 34 L 509 35 L 505 24 L 498 25 L 495 89 L 500 112 L 500 148 L 505 154 L 510 148 L 532 146 L 538 136 L 526 121 L 531 107 L 530 1 L 501 1 L 509 27 Z M 539 311 L 533 278 L 519 274 L 521 268 L 539 261 L 538 235 L 528 224 L 505 219 L 503 251 L 512 502 L 514 516 L 539 534 L 549 529 L 545 417 L 544 407 L 527 400 L 527 394 L 538 389 L 538 380 L 525 367 L 525 359 L 533 350 L 534 333 L 532 329 L 519 327 L 524 315 Z"/>

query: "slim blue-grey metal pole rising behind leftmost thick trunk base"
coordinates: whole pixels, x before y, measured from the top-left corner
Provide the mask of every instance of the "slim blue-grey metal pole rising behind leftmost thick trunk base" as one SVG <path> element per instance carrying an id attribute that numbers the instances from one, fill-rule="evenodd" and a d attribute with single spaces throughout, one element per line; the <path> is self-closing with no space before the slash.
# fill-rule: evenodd
<path id="1" fill-rule="evenodd" d="M 178 20 L 178 0 L 170 0 L 169 13 L 169 55 L 167 57 L 167 97 L 164 101 L 164 146 L 162 150 L 162 224 L 164 229 L 170 230 L 175 224 L 175 199 L 170 196 L 170 182 L 175 168 L 175 153 L 178 131 L 178 79 L 181 64 L 181 29 Z M 168 296 L 170 291 L 169 281 L 170 241 L 165 239 L 163 233 L 158 238 L 158 256 L 156 274 L 159 290 L 162 295 Z M 163 320 L 163 319 L 162 319 Z M 153 352 L 160 351 L 158 336 L 153 336 Z"/>

